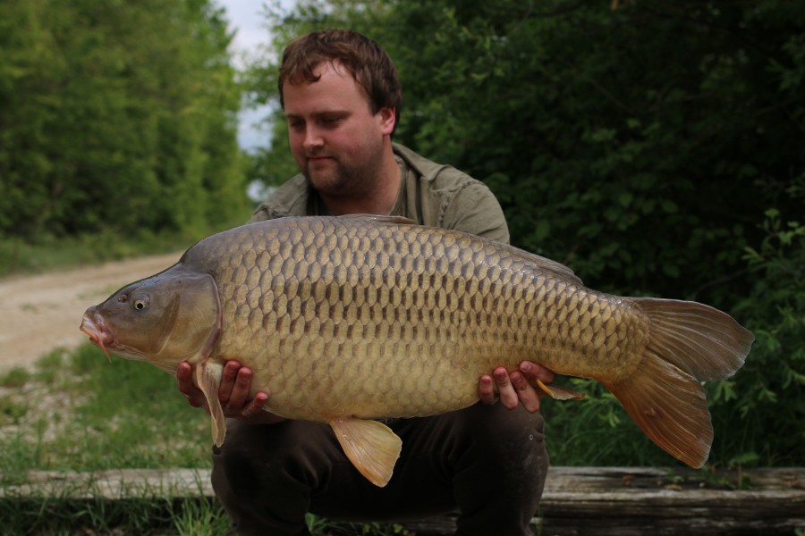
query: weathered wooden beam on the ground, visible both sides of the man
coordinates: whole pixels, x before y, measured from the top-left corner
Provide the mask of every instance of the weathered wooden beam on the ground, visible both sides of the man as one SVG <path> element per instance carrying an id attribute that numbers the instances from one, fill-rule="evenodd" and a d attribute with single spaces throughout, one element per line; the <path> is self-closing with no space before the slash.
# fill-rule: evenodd
<path id="1" fill-rule="evenodd" d="M 213 498 L 208 470 L 120 469 L 97 473 L 30 472 L 0 487 L 0 499 Z M 418 536 L 449 534 L 454 515 L 402 525 Z M 793 534 L 805 531 L 805 468 L 707 473 L 682 468 L 552 467 L 539 533 Z"/>

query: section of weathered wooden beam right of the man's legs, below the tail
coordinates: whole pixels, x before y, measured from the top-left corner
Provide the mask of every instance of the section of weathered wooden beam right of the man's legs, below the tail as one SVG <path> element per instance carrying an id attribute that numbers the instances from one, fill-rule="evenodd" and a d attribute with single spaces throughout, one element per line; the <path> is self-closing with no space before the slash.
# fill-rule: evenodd
<path id="1" fill-rule="evenodd" d="M 801 467 L 741 474 L 686 468 L 563 467 L 561 477 L 551 476 L 541 504 L 546 534 L 792 534 L 795 528 L 805 530 L 805 468 Z"/>

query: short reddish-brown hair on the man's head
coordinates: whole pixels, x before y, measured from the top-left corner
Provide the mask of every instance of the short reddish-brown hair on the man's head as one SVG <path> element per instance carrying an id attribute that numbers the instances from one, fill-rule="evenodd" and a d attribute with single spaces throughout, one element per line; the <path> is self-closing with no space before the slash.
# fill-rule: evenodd
<path id="1" fill-rule="evenodd" d="M 295 86 L 318 81 L 314 73 L 319 63 L 340 63 L 369 97 L 372 113 L 394 108 L 394 127 L 400 121 L 402 86 L 397 69 L 386 51 L 372 39 L 352 29 L 324 29 L 295 38 L 285 47 L 280 66 L 280 105 L 285 106 L 285 82 Z"/>

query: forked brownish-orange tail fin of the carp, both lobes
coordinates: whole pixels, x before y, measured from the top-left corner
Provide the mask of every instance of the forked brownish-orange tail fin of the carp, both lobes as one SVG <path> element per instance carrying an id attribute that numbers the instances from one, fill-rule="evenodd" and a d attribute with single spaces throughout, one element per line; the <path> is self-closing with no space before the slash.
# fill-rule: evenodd
<path id="1" fill-rule="evenodd" d="M 604 384 L 657 446 L 691 467 L 701 467 L 713 442 L 702 381 L 732 376 L 749 354 L 754 336 L 710 306 L 630 299 L 648 316 L 648 344 L 631 376 Z"/>

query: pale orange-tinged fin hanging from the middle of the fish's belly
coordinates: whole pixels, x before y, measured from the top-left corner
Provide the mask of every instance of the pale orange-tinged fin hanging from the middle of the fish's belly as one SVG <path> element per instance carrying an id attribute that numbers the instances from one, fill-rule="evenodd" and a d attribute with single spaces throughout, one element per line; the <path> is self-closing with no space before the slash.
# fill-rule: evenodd
<path id="1" fill-rule="evenodd" d="M 384 423 L 352 417 L 333 419 L 330 426 L 344 454 L 360 474 L 376 486 L 385 487 L 402 449 L 397 434 Z"/>

